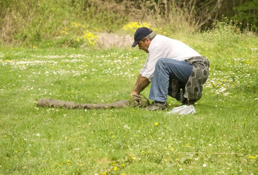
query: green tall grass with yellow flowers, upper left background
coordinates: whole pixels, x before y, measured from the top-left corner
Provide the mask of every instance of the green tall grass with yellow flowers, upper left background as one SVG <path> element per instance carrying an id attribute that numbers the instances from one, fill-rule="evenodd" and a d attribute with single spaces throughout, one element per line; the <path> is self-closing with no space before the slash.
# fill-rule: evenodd
<path id="1" fill-rule="evenodd" d="M 22 46 L 77 47 L 82 40 L 94 45 L 95 32 L 110 32 L 127 20 L 112 4 L 106 4 L 99 0 L 2 1 L 0 39 Z"/>

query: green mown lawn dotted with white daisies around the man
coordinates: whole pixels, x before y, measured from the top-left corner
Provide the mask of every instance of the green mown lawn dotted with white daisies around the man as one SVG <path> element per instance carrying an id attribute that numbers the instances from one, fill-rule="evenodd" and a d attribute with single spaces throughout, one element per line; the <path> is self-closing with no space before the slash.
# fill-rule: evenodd
<path id="1" fill-rule="evenodd" d="M 37 107 L 43 97 L 129 99 L 146 54 L 1 48 L 0 174 L 258 173 L 257 37 L 214 31 L 175 38 L 211 63 L 194 115 Z"/>

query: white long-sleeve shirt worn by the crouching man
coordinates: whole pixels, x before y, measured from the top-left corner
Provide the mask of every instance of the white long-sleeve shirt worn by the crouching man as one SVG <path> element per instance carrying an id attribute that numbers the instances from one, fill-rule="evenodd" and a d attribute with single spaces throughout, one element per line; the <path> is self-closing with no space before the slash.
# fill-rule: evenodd
<path id="1" fill-rule="evenodd" d="M 159 58 L 171 58 L 176 60 L 185 60 L 200 54 L 193 48 L 189 47 L 182 41 L 172 39 L 157 34 L 152 40 L 148 48 L 148 57 L 143 68 L 140 70 L 142 76 L 152 81 L 156 62 Z"/>

